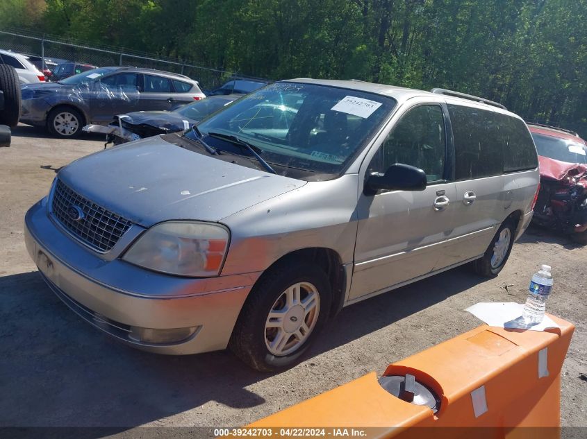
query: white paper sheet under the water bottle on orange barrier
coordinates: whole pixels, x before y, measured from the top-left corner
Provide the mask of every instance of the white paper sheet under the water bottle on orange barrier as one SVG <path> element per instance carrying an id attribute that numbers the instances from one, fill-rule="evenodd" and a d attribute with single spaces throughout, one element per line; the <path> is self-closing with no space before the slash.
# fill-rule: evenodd
<path id="1" fill-rule="evenodd" d="M 544 316 L 542 322 L 537 325 L 526 325 L 522 318 L 523 309 L 523 304 L 515 302 L 479 302 L 468 307 L 465 311 L 469 311 L 473 316 L 490 326 L 529 329 L 531 331 L 544 331 L 546 328 L 559 327 L 549 316 Z"/>

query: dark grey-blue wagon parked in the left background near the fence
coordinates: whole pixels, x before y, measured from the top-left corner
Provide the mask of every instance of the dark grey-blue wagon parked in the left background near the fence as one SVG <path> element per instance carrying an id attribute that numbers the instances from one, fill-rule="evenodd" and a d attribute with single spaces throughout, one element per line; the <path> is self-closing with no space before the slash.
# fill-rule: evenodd
<path id="1" fill-rule="evenodd" d="M 135 110 L 174 110 L 205 98 L 187 76 L 133 67 L 100 67 L 57 83 L 22 87 L 21 121 L 58 137 L 76 137 L 88 123 L 106 125 Z"/>

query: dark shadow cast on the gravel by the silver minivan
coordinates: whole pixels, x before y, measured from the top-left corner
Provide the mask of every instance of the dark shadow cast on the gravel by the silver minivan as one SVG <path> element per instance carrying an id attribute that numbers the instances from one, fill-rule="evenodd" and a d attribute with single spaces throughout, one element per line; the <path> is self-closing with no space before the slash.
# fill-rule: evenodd
<path id="1" fill-rule="evenodd" d="M 313 354 L 390 325 L 480 280 L 457 268 L 355 304 L 334 320 Z M 265 402 L 246 387 L 267 375 L 230 352 L 160 356 L 117 343 L 69 311 L 36 271 L 0 277 L 0 300 L 0 381 L 3 395 L 10 395 L 0 401 L 0 426 L 124 430 L 192 409 L 197 413 L 207 402 L 233 408 Z M 91 429 L 85 432 L 92 436 Z"/>

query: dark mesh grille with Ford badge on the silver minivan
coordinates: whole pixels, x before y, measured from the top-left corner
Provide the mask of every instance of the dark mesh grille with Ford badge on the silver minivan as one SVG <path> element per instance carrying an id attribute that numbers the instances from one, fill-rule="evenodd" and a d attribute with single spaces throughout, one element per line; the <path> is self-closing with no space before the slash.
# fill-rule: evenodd
<path id="1" fill-rule="evenodd" d="M 83 218 L 74 219 L 69 215 L 68 211 L 73 206 L 83 212 Z M 69 189 L 61 180 L 57 180 L 51 207 L 53 215 L 65 229 L 99 252 L 107 252 L 113 248 L 124 232 L 133 225 L 131 221 Z"/>

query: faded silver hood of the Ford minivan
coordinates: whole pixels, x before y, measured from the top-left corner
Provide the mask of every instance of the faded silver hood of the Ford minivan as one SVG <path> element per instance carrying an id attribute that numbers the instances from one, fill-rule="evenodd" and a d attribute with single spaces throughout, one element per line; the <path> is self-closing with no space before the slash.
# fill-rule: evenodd
<path id="1" fill-rule="evenodd" d="M 172 219 L 220 221 L 306 184 L 195 153 L 159 136 L 78 159 L 58 178 L 144 227 Z"/>

